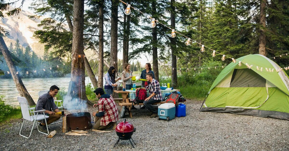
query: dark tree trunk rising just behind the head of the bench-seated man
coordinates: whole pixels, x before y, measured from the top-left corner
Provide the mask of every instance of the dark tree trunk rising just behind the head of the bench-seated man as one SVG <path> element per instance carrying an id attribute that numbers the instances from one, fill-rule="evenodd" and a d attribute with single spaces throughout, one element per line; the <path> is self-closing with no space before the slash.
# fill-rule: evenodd
<path id="1" fill-rule="evenodd" d="M 155 7 L 156 3 L 155 2 L 152 2 L 152 9 L 153 9 L 153 14 L 156 13 L 157 11 L 157 8 Z M 157 20 L 156 17 L 153 17 L 155 18 L 155 20 Z M 152 33 L 152 44 L 153 44 L 153 71 L 155 73 L 155 79 L 157 81 L 159 81 L 159 68 L 158 68 L 158 47 L 156 47 L 158 45 L 158 39 L 157 39 L 157 22 L 156 23 L 156 26 L 155 28 L 153 28 L 153 33 Z"/>

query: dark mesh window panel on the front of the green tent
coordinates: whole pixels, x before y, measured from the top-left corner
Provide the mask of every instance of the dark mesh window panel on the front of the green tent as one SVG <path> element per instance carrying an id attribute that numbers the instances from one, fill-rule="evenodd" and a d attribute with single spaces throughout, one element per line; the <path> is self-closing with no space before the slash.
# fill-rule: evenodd
<path id="1" fill-rule="evenodd" d="M 251 69 L 234 69 L 230 87 L 266 87 L 266 79 Z"/>

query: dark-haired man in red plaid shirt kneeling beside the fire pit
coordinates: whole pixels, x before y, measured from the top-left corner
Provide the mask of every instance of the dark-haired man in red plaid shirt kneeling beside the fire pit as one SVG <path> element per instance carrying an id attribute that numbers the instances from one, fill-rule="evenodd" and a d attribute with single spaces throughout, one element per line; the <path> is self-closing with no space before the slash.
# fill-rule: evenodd
<path id="1" fill-rule="evenodd" d="M 116 126 L 118 110 L 113 98 L 108 94 L 104 94 L 101 88 L 97 88 L 93 92 L 99 98 L 98 104 L 93 105 L 94 108 L 98 106 L 99 113 L 93 112 L 92 115 L 100 117 L 98 121 L 95 121 L 93 129 L 102 130 Z"/>

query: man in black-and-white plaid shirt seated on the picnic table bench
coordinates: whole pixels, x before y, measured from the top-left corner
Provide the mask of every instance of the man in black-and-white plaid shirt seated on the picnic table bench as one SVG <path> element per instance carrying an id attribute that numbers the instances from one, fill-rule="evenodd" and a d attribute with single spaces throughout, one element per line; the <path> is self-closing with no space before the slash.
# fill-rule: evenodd
<path id="1" fill-rule="evenodd" d="M 147 81 L 150 82 L 150 84 L 145 88 L 137 88 L 136 90 L 149 90 L 149 97 L 144 100 L 144 106 L 150 110 L 148 116 L 150 116 L 151 118 L 155 118 L 158 117 L 158 109 L 155 109 L 152 104 L 162 101 L 160 83 L 157 80 L 153 79 L 153 74 L 151 73 L 147 73 L 146 77 Z"/>

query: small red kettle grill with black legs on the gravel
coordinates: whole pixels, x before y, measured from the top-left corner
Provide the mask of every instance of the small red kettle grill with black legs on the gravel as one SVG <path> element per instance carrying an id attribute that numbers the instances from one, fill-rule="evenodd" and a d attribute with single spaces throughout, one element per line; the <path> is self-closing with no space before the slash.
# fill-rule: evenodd
<path id="1" fill-rule="evenodd" d="M 118 135 L 118 140 L 113 147 L 118 144 L 119 140 L 129 140 L 131 146 L 134 148 L 134 145 L 131 143 L 131 140 L 132 142 L 134 142 L 134 140 L 131 138 L 131 136 L 132 134 L 134 134 L 134 132 L 136 132 L 136 128 L 131 123 L 127 122 L 126 119 L 124 119 L 123 122 L 116 125 L 115 131 L 116 135 Z M 134 144 L 136 145 L 135 142 Z"/>

